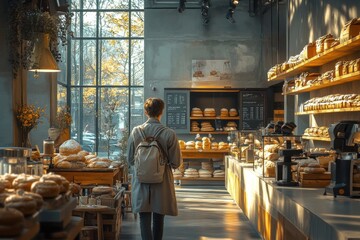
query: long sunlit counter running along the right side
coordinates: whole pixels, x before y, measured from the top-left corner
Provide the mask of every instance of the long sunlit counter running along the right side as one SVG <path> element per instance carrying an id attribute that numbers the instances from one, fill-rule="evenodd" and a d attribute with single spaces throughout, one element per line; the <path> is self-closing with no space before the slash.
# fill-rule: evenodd
<path id="1" fill-rule="evenodd" d="M 359 240 L 360 199 L 281 187 L 227 156 L 225 186 L 266 240 Z"/>

